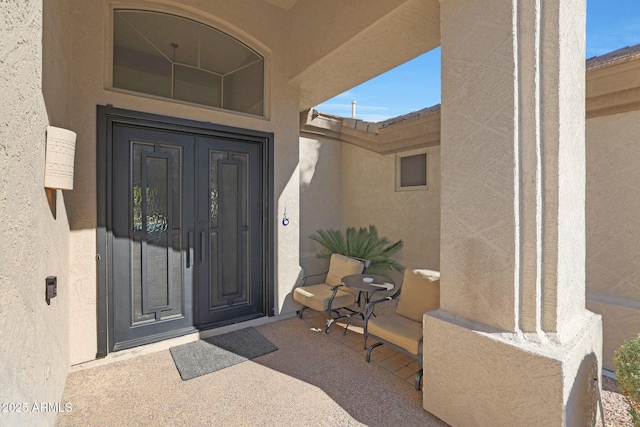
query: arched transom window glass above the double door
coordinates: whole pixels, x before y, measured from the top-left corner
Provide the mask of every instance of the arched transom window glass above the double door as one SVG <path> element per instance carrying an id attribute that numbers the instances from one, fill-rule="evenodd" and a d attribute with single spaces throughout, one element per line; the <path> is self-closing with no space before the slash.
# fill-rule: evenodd
<path id="1" fill-rule="evenodd" d="M 113 86 L 263 115 L 264 58 L 190 19 L 115 10 Z"/>

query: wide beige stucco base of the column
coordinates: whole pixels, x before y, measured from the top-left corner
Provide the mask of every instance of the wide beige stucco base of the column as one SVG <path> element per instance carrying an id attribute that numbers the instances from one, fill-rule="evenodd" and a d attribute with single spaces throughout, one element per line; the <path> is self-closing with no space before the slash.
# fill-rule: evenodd
<path id="1" fill-rule="evenodd" d="M 558 346 L 426 313 L 425 409 L 453 426 L 597 425 L 602 329 L 597 315 L 580 320 L 575 339 Z"/>

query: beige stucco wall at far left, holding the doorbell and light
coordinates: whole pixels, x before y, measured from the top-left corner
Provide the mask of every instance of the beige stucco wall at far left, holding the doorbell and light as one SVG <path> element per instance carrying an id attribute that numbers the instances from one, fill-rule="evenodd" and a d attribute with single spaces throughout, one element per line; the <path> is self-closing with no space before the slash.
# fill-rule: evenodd
<path id="1" fill-rule="evenodd" d="M 68 127 L 68 40 L 43 37 L 64 24 L 64 1 L 0 6 L 0 402 L 2 425 L 51 425 L 69 368 L 68 192 L 44 188 L 47 125 Z M 44 7 L 44 12 L 43 12 Z M 45 302 L 45 278 L 58 296 Z"/>

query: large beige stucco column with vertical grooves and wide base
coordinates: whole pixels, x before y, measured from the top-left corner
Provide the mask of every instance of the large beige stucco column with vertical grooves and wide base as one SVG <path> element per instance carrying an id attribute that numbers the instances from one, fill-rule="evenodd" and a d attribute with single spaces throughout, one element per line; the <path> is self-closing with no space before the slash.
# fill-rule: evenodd
<path id="1" fill-rule="evenodd" d="M 441 305 L 424 407 L 454 426 L 587 426 L 585 1 L 441 0 Z"/>

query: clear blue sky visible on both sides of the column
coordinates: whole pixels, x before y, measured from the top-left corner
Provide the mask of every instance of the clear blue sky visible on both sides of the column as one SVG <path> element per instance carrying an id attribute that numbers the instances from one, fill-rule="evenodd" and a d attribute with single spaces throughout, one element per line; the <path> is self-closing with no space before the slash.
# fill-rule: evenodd
<path id="1" fill-rule="evenodd" d="M 640 0 L 587 0 L 587 55 L 640 43 Z M 379 122 L 440 103 L 440 48 L 316 106 L 316 110 Z"/>

